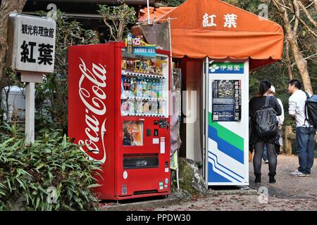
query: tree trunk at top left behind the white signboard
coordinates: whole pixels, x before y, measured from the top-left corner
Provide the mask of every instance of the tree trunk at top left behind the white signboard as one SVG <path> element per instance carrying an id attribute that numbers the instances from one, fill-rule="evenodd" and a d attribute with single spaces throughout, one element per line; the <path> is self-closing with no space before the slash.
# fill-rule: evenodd
<path id="1" fill-rule="evenodd" d="M 0 5 L 0 81 L 6 66 L 6 51 L 8 50 L 8 15 L 21 13 L 27 0 L 2 0 Z"/>

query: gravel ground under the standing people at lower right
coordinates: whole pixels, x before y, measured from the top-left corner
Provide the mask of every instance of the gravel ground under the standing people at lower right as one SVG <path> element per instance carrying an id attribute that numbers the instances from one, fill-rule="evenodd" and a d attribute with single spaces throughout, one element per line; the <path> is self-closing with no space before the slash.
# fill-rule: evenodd
<path id="1" fill-rule="evenodd" d="M 291 176 L 298 167 L 297 156 L 278 156 L 276 184 L 268 184 L 268 165 L 262 165 L 262 183 L 254 184 L 253 165 L 250 163 L 250 187 L 256 190 L 268 188 L 268 195 L 219 195 L 147 210 L 154 211 L 214 211 L 214 210 L 261 210 L 293 211 L 317 210 L 317 159 L 309 177 Z M 263 197 L 264 198 L 261 198 Z"/>

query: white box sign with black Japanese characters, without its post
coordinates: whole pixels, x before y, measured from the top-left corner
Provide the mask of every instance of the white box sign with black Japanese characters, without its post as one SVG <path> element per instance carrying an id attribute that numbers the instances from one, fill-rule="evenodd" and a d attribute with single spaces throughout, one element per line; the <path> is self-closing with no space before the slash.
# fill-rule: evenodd
<path id="1" fill-rule="evenodd" d="M 11 13 L 8 60 L 16 72 L 54 71 L 56 22 L 47 18 Z"/>

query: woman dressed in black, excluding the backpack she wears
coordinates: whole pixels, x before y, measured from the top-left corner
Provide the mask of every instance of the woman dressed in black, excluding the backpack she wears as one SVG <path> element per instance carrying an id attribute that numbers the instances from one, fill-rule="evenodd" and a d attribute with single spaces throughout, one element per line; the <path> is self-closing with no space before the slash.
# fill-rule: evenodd
<path id="1" fill-rule="evenodd" d="M 278 143 L 279 136 L 261 137 L 256 133 L 254 127 L 254 115 L 266 103 L 266 98 L 271 91 L 271 82 L 267 79 L 263 80 L 259 86 L 259 94 L 252 97 L 249 101 L 249 117 L 251 117 L 251 135 L 250 145 L 254 145 L 254 175 L 256 179 L 254 183 L 261 183 L 261 163 L 263 158 L 263 146 L 266 144 L 268 150 L 268 169 L 269 182 L 275 183 L 276 166 L 278 164 L 278 155 L 275 153 L 274 143 Z M 282 114 L 280 104 L 274 96 L 271 96 L 268 105 L 275 110 L 277 115 Z"/>

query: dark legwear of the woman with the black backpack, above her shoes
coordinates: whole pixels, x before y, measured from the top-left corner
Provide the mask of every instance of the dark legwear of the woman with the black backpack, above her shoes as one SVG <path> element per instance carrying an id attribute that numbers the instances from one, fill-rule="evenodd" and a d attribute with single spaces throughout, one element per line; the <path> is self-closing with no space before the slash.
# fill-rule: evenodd
<path id="1" fill-rule="evenodd" d="M 274 176 L 276 174 L 276 165 L 278 165 L 278 155 L 275 153 L 273 143 L 265 143 L 265 144 L 268 151 L 269 175 Z M 263 147 L 264 147 L 263 141 L 254 144 L 254 158 L 253 158 L 254 174 L 261 174 Z"/>

